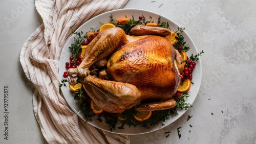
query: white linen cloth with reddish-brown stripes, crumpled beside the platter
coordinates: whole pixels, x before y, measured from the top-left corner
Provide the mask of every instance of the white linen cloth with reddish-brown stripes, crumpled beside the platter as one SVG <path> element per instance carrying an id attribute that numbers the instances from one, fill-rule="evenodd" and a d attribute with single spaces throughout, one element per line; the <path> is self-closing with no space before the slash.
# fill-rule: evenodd
<path id="1" fill-rule="evenodd" d="M 63 46 L 82 23 L 127 0 L 35 0 L 42 25 L 27 39 L 20 63 L 35 86 L 33 108 L 49 143 L 130 143 L 128 135 L 114 134 L 85 124 L 59 94 L 58 67 Z"/>

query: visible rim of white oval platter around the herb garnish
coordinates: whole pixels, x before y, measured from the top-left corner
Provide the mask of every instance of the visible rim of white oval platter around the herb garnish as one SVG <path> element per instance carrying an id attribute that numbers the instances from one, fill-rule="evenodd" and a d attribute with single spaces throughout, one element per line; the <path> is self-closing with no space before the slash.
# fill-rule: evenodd
<path id="1" fill-rule="evenodd" d="M 110 19 L 111 14 L 113 15 L 114 19 L 124 18 L 124 16 L 126 16 L 128 18 L 132 18 L 132 16 L 134 16 L 134 18 L 136 20 L 138 20 L 139 16 L 144 15 L 146 20 L 149 20 L 148 18 L 150 16 L 152 16 L 153 20 L 155 22 L 157 22 L 159 16 L 161 16 L 162 21 L 166 21 L 169 23 L 169 27 L 172 31 L 177 31 L 178 30 L 177 28 L 179 27 L 174 21 L 168 19 L 167 17 L 165 17 L 163 15 L 159 15 L 154 12 L 140 10 L 140 9 L 120 9 L 120 10 L 114 10 L 114 11 L 100 14 L 100 15 L 90 19 L 89 21 L 83 23 L 83 25 L 81 27 L 79 27 L 76 31 L 77 32 L 83 31 L 84 33 L 86 33 L 91 28 L 96 28 L 96 30 L 97 30 L 101 26 L 101 24 L 99 22 L 104 22 L 104 23 L 111 22 L 111 19 Z M 187 35 L 187 33 L 185 31 L 183 32 L 183 36 L 185 37 L 184 40 L 186 41 L 186 44 L 188 44 L 190 46 L 190 50 L 188 52 L 186 52 L 187 56 L 189 57 L 191 55 L 191 53 L 193 53 L 194 55 L 198 54 L 198 50 L 197 50 L 194 42 L 191 40 L 191 38 Z M 61 53 L 60 64 L 59 64 L 60 65 L 59 66 L 59 81 L 64 79 L 62 75 L 63 75 L 64 71 L 67 71 L 67 69 L 65 67 L 65 63 L 69 61 L 69 57 L 71 56 L 71 53 L 70 53 L 68 47 L 71 45 L 71 43 L 73 43 L 74 37 L 75 37 L 75 35 L 72 35 L 70 37 L 70 39 L 67 41 L 67 43 Z M 202 77 L 202 68 L 201 68 L 201 60 L 199 60 L 197 62 L 196 67 L 193 70 L 193 83 L 194 84 L 191 85 L 191 88 L 189 90 L 190 96 L 186 100 L 186 103 L 190 103 L 190 104 L 194 103 L 194 101 L 197 97 L 199 88 L 200 88 L 201 77 Z M 76 102 L 74 100 L 74 96 L 72 95 L 69 87 L 62 86 L 61 90 L 62 90 L 63 97 L 65 97 L 67 103 L 72 108 L 72 110 L 74 112 L 76 112 L 78 116 L 83 118 L 83 113 L 80 111 L 78 102 Z M 129 135 L 144 134 L 144 133 L 149 133 L 149 132 L 159 130 L 161 128 L 164 128 L 165 126 L 168 126 L 169 124 L 172 124 L 179 117 L 181 117 L 184 113 L 185 113 L 185 110 L 179 110 L 179 115 L 170 116 L 169 119 L 166 119 L 166 121 L 164 122 L 164 126 L 162 126 L 162 123 L 161 123 L 158 126 L 152 126 L 151 129 L 141 128 L 141 127 L 136 127 L 136 128 L 130 127 L 129 128 L 129 127 L 125 126 L 124 129 L 116 128 L 116 130 L 109 131 L 109 125 L 105 124 L 104 122 L 97 121 L 96 118 L 93 118 L 93 121 L 88 122 L 88 123 L 94 127 L 101 129 L 101 130 L 109 131 L 112 133 L 129 134 Z"/>

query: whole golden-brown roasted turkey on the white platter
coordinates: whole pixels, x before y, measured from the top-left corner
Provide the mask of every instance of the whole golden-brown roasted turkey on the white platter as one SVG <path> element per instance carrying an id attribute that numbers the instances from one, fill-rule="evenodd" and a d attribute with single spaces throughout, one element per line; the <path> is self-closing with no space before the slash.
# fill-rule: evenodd
<path id="1" fill-rule="evenodd" d="M 68 70 L 69 83 L 82 83 L 95 104 L 108 112 L 121 113 L 134 106 L 141 111 L 173 108 L 184 67 L 179 52 L 164 38 L 170 31 L 137 26 L 131 33 L 139 36 L 126 35 L 121 28 L 99 33 L 81 64 Z M 106 68 L 92 75 L 97 65 Z"/>

